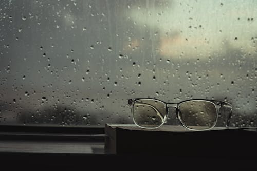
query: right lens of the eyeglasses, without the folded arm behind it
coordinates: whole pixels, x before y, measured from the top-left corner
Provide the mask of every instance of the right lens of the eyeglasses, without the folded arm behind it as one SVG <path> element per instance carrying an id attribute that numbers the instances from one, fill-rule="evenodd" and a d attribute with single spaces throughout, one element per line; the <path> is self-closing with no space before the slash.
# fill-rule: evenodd
<path id="1" fill-rule="evenodd" d="M 208 129 L 216 122 L 216 107 L 208 101 L 188 101 L 179 106 L 182 123 L 191 129 Z"/>

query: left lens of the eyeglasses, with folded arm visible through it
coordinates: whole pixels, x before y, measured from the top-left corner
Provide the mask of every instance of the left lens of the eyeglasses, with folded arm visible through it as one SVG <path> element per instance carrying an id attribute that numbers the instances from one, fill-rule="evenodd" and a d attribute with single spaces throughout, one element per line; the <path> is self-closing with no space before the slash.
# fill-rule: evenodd
<path id="1" fill-rule="evenodd" d="M 142 99 L 134 103 L 133 115 L 136 124 L 145 128 L 155 128 L 164 122 L 166 104 L 158 100 Z"/>

